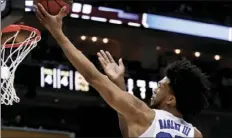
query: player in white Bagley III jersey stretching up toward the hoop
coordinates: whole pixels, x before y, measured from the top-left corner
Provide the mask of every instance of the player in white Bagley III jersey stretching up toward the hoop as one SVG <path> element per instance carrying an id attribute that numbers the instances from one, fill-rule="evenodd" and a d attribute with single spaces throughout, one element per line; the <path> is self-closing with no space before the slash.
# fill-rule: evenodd
<path id="1" fill-rule="evenodd" d="M 124 117 L 128 137 L 202 137 L 196 128 L 182 119 L 199 113 L 206 103 L 208 81 L 196 66 L 186 60 L 170 64 L 166 77 L 159 82 L 152 96 L 151 107 L 154 109 L 151 109 L 100 73 L 69 41 L 62 31 L 65 7 L 56 16 L 50 15 L 40 4 L 35 6 L 35 11 L 74 67 Z"/>

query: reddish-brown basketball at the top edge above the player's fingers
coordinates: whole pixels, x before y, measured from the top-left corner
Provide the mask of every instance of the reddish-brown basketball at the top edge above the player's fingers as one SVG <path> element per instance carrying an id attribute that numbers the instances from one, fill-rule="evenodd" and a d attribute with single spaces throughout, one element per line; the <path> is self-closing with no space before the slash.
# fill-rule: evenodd
<path id="1" fill-rule="evenodd" d="M 52 15 L 57 15 L 63 6 L 66 6 L 66 12 L 68 14 L 71 10 L 71 4 L 73 1 L 72 0 L 36 0 L 36 2 L 43 5 L 44 9 L 48 13 Z"/>

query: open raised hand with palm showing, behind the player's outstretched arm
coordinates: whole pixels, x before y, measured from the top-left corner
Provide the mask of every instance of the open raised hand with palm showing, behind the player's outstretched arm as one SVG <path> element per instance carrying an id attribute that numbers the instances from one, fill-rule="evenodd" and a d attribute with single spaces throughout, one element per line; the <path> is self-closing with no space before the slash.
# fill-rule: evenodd
<path id="1" fill-rule="evenodd" d="M 119 59 L 117 64 L 112 58 L 111 54 L 108 51 L 103 50 L 98 52 L 97 55 L 102 68 L 110 80 L 117 81 L 124 78 L 125 66 L 122 59 Z"/>

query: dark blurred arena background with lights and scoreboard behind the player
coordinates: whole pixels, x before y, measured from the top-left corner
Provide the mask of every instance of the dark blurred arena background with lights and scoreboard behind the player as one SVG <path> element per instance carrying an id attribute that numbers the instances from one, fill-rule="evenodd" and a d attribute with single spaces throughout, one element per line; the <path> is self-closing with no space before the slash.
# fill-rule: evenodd
<path id="1" fill-rule="evenodd" d="M 25 24 L 42 33 L 38 46 L 16 71 L 20 103 L 1 106 L 2 134 L 120 137 L 116 112 L 39 24 L 33 0 L 1 0 L 1 4 L 2 27 Z M 75 0 L 64 30 L 100 70 L 99 50 L 122 57 L 128 91 L 146 102 L 169 62 L 191 60 L 212 82 L 210 106 L 193 124 L 205 137 L 232 137 L 231 3 Z"/>

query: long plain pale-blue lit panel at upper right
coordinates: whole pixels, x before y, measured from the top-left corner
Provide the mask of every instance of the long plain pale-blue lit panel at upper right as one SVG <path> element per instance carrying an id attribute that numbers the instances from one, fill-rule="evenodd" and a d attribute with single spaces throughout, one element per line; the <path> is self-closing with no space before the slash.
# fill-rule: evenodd
<path id="1" fill-rule="evenodd" d="M 227 26 L 201 23 L 155 14 L 147 14 L 146 23 L 148 24 L 149 29 L 230 41 L 230 27 Z"/>

